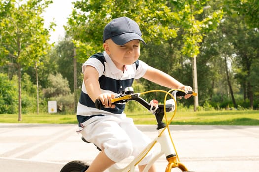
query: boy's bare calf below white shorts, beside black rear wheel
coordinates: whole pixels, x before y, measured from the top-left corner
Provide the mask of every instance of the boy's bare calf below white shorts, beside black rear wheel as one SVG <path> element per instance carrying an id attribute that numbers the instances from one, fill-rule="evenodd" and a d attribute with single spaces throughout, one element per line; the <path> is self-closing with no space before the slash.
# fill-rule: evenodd
<path id="1" fill-rule="evenodd" d="M 104 151 L 101 151 L 93 160 L 89 168 L 85 172 L 103 172 L 111 165 L 115 164 L 114 161 L 109 159 Z"/>

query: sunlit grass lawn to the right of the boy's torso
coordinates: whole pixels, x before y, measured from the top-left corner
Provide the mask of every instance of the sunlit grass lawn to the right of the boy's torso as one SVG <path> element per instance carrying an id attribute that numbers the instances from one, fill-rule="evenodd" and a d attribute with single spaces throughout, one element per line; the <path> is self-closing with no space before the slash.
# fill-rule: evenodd
<path id="1" fill-rule="evenodd" d="M 155 124 L 154 115 L 128 115 L 136 124 Z M 178 112 L 175 125 L 259 125 L 259 111 Z"/>

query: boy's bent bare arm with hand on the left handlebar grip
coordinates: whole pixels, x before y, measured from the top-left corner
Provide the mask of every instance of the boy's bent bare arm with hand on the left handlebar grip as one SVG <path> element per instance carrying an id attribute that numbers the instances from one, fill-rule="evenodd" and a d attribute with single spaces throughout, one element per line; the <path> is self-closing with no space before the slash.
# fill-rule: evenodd
<path id="1" fill-rule="evenodd" d="M 92 66 L 86 66 L 84 70 L 84 85 L 87 94 L 93 102 L 95 102 L 96 99 L 99 99 L 106 107 L 114 108 L 115 105 L 111 105 L 111 99 L 115 98 L 115 95 L 106 93 L 102 94 L 98 79 L 98 71 Z"/>

